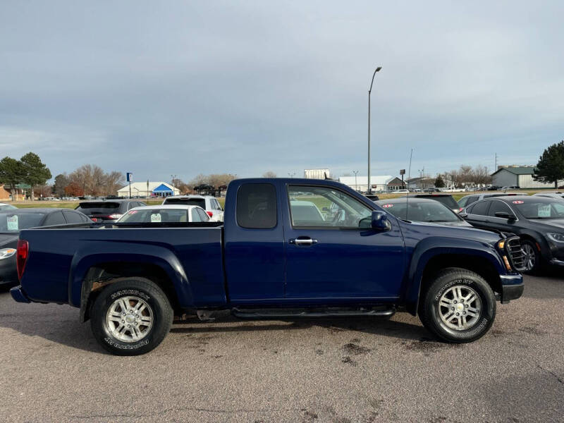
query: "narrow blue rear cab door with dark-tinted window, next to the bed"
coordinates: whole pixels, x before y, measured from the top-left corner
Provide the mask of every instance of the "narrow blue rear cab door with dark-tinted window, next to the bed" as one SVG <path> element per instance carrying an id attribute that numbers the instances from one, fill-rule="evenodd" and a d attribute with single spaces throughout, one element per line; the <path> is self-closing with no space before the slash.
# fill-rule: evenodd
<path id="1" fill-rule="evenodd" d="M 237 188 L 230 188 L 230 190 Z M 226 202 L 225 269 L 234 305 L 276 303 L 284 296 L 281 192 L 273 183 L 243 183 Z"/>

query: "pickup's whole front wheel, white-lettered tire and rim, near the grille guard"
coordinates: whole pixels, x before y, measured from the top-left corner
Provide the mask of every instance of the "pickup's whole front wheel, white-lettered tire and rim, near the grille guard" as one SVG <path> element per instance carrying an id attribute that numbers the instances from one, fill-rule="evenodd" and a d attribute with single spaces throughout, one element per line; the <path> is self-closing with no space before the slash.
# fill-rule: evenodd
<path id="1" fill-rule="evenodd" d="M 439 271 L 419 304 L 423 326 L 450 343 L 482 338 L 495 317 L 496 297 L 488 283 L 479 274 L 456 267 Z"/>

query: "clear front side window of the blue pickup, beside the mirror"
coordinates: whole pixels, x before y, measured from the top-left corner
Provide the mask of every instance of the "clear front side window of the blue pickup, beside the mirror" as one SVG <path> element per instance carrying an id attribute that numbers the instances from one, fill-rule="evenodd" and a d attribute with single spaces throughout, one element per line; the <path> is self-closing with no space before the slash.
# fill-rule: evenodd
<path id="1" fill-rule="evenodd" d="M 295 227 L 370 226 L 372 209 L 334 188 L 290 186 L 288 198 L 292 225 Z"/>

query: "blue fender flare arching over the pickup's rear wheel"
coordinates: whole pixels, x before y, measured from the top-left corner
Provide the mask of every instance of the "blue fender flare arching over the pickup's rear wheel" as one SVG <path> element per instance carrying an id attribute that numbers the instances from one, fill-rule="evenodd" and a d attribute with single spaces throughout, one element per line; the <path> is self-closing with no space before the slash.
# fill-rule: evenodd
<path id="1" fill-rule="evenodd" d="M 85 281 L 92 266 L 111 262 L 154 264 L 164 270 L 173 283 L 176 295 L 183 307 L 192 307 L 193 293 L 190 281 L 185 274 L 178 257 L 161 245 L 147 245 L 128 242 L 87 243 L 80 248 L 71 262 L 68 281 L 68 300 L 75 307 L 82 307 L 92 290 L 92 281 Z M 104 252 L 99 252 L 103 250 Z"/>

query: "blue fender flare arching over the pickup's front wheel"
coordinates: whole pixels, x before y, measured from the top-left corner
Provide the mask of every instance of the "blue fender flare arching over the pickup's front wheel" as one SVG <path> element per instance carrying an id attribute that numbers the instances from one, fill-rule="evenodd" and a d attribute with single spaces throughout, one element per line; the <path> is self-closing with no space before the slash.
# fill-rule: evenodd
<path id="1" fill-rule="evenodd" d="M 423 272 L 429 261 L 439 255 L 467 255 L 487 259 L 498 271 L 498 274 L 505 274 L 505 266 L 495 247 L 489 243 L 477 240 L 467 240 L 460 238 L 431 237 L 425 238 L 418 243 L 413 250 L 407 274 L 405 289 L 405 307 L 407 312 L 414 316 L 417 314 L 419 305 L 419 294 Z"/>

